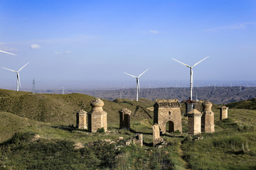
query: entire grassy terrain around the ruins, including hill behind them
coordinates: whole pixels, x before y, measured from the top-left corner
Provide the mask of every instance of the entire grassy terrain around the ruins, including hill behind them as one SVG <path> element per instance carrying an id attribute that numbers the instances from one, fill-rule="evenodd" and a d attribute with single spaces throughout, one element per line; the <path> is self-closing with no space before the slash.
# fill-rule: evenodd
<path id="1" fill-rule="evenodd" d="M 146 108 L 154 101 L 105 101 L 105 133 L 70 126 L 75 111 L 90 111 L 92 99 L 82 94 L 1 97 L 1 109 L 12 113 L 0 113 L 0 169 L 256 169 L 254 110 L 230 108 L 228 119 L 219 120 L 218 106 L 213 106 L 214 133 L 188 135 L 187 119 L 182 118 L 182 134 L 166 132 L 161 135 L 164 144 L 152 147 L 153 115 Z M 124 107 L 132 111 L 132 130 L 118 128 L 118 111 Z M 143 134 L 143 147 L 126 145 L 136 133 Z"/>

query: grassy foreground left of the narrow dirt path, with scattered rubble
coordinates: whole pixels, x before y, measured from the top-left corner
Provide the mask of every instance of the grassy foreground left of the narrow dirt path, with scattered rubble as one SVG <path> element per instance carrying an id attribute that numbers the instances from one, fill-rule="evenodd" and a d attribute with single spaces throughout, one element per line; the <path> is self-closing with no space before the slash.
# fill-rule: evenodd
<path id="1" fill-rule="evenodd" d="M 174 142 L 171 142 L 174 139 L 169 137 L 167 138 L 171 145 L 166 149 L 131 145 L 115 150 L 113 148 L 119 145 L 118 142 L 114 145 L 96 142 L 96 145 L 92 146 L 90 143 L 105 139 L 117 141 L 120 136 L 127 140 L 134 132 L 109 128 L 110 132 L 92 134 L 70 126 L 35 120 L 27 119 L 28 123 L 24 124 L 23 120 L 26 118 L 12 113 L 1 115 L 9 116 L 10 126 L 11 121 L 25 126 L 17 130 L 11 139 L 0 144 L 0 169 L 181 169 L 184 164 L 177 152 L 178 145 L 174 145 Z M 10 130 L 13 127 L 10 127 Z M 151 132 L 151 119 L 134 122 L 132 127 L 136 132 L 146 129 Z M 6 128 L 8 126 L 4 129 Z M 33 141 L 35 134 L 40 138 Z M 150 144 L 151 139 L 151 135 L 144 135 L 144 142 Z M 73 145 L 77 142 L 81 142 L 85 147 L 75 150 Z"/>

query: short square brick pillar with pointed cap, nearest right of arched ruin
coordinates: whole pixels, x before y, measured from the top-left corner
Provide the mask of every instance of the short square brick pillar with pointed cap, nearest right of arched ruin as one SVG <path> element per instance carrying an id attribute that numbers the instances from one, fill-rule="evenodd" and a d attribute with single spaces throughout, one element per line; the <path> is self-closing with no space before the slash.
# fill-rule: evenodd
<path id="1" fill-rule="evenodd" d="M 187 113 L 188 115 L 188 134 L 201 134 L 201 117 L 202 113 L 196 109 Z"/>

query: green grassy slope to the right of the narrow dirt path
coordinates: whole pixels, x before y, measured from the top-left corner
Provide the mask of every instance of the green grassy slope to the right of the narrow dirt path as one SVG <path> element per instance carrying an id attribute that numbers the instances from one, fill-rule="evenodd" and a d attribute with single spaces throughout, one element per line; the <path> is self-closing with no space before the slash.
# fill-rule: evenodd
<path id="1" fill-rule="evenodd" d="M 256 123 L 252 119 L 256 112 L 229 109 L 226 120 L 218 120 L 216 115 L 215 133 L 183 142 L 184 158 L 191 169 L 255 169 Z"/>

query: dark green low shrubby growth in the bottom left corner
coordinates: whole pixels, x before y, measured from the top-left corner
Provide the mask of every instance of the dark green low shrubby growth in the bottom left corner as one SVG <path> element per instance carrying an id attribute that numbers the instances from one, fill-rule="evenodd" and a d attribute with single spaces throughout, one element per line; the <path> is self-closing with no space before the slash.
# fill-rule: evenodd
<path id="1" fill-rule="evenodd" d="M 74 149 L 74 143 L 39 139 L 31 142 L 33 133 L 17 133 L 1 147 L 1 168 L 9 169 L 97 169 L 112 167 L 117 151 L 114 145 L 85 146 Z"/>

